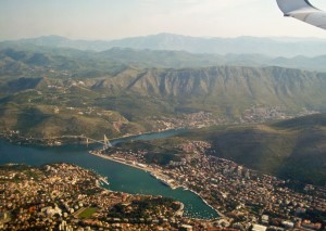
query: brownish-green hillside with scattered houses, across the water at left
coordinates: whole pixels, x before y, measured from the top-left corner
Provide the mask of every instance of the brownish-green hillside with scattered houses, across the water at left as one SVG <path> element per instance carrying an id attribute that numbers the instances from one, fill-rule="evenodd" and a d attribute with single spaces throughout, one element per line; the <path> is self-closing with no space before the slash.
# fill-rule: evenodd
<path id="1" fill-rule="evenodd" d="M 29 89 L 0 100 L 0 129 L 20 130 L 24 137 L 36 138 L 72 134 L 101 138 L 104 133 L 118 137 L 143 131 L 118 112 L 85 106 L 85 102 L 98 97 L 93 91 L 72 87 L 64 95 L 40 92 Z"/>

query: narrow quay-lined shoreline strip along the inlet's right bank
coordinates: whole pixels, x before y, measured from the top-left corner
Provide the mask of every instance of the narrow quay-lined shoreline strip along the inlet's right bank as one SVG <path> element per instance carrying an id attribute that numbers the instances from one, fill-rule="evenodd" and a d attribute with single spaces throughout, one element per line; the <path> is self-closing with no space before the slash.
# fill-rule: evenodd
<path id="1" fill-rule="evenodd" d="M 112 161 L 112 162 L 116 162 L 116 163 L 120 163 L 122 165 L 127 165 L 129 167 L 134 167 L 134 168 L 137 168 L 139 170 L 143 170 L 146 172 L 150 172 L 152 176 L 155 174 L 153 169 L 151 168 L 146 168 L 146 167 L 140 167 L 140 166 L 137 166 L 137 165 L 134 165 L 134 164 L 129 164 L 129 163 L 126 163 L 124 161 L 120 161 L 120 159 L 116 159 L 114 157 L 110 157 L 110 156 L 106 156 L 106 155 L 103 155 L 103 154 L 98 154 L 96 152 L 88 152 L 90 155 L 95 155 L 95 156 L 98 156 L 100 158 L 105 158 L 105 159 L 109 159 L 109 161 Z M 173 188 L 171 187 L 168 183 L 164 182 L 161 178 L 158 178 L 155 177 L 158 180 L 160 180 L 162 183 L 164 183 L 165 185 L 170 187 L 172 190 L 175 190 L 175 189 L 178 189 L 178 188 L 183 188 L 184 190 L 187 190 L 187 191 L 190 191 L 192 192 L 193 194 L 196 194 L 197 196 L 199 196 L 203 203 L 205 203 L 205 205 L 208 205 L 210 208 L 212 208 L 217 215 L 218 215 L 218 218 L 214 218 L 214 219 L 220 219 L 220 218 L 224 218 L 225 215 L 223 215 L 221 211 L 218 211 L 217 209 L 215 209 L 212 205 L 210 205 L 199 193 L 195 192 L 193 190 L 191 189 L 188 189 L 188 188 L 185 188 L 184 185 L 178 185 L 177 188 Z M 213 219 L 212 219 L 213 220 Z"/>

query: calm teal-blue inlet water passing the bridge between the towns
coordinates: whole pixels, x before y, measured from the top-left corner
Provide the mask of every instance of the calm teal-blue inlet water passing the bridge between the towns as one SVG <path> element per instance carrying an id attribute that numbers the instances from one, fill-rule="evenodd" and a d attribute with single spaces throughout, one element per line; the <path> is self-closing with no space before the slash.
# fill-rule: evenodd
<path id="1" fill-rule="evenodd" d="M 168 137 L 177 131 L 162 132 L 159 137 Z M 146 134 L 147 139 L 159 138 L 158 134 Z M 149 137 L 148 137 L 149 136 Z M 143 136 L 134 137 L 145 139 Z M 202 200 L 190 191 L 172 190 L 148 172 L 128 167 L 109 159 L 88 154 L 86 146 L 66 145 L 55 147 L 21 146 L 0 140 L 0 164 L 22 163 L 40 166 L 49 163 L 71 163 L 84 168 L 92 169 L 109 178 L 108 189 L 131 194 L 151 194 L 173 197 L 185 204 L 185 215 L 196 218 L 216 218 L 217 214 L 205 205 Z"/>

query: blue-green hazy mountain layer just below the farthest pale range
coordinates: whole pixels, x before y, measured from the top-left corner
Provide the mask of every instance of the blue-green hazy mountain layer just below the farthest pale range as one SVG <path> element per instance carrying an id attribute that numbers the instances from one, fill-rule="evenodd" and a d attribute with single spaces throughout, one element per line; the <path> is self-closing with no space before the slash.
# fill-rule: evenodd
<path id="1" fill-rule="evenodd" d="M 2 49 L 1 49 L 2 48 Z M 193 54 L 185 51 L 112 48 L 102 52 L 0 43 L 0 76 L 102 77 L 128 68 L 200 68 L 210 66 L 280 66 L 326 72 L 326 55 L 271 57 L 261 54 Z"/>

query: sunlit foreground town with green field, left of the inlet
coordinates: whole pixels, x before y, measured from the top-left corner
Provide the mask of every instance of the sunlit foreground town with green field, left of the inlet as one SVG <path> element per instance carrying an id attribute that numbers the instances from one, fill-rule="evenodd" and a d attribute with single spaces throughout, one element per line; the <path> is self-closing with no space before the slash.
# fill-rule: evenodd
<path id="1" fill-rule="evenodd" d="M 5 165 L 0 176 L 0 230 L 229 230 L 183 217 L 172 198 L 104 190 L 108 179 L 71 164 Z"/>

